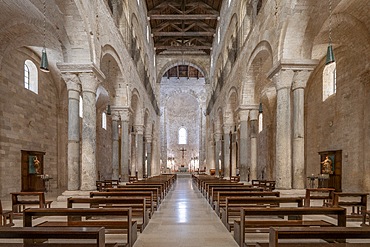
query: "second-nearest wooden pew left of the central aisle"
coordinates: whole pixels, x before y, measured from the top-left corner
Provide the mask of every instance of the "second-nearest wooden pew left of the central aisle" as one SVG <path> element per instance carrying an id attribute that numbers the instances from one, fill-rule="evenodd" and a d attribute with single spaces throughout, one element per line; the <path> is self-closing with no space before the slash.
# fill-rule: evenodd
<path id="1" fill-rule="evenodd" d="M 44 216 L 63 216 L 67 219 L 45 221 L 37 224 L 38 227 L 104 227 L 106 234 L 126 235 L 128 247 L 132 247 L 137 239 L 137 222 L 132 220 L 131 208 L 28 208 L 23 211 L 23 226 L 36 226 L 33 218 Z M 82 220 L 83 217 L 86 220 Z M 98 217 L 99 220 L 89 220 L 91 217 Z"/>

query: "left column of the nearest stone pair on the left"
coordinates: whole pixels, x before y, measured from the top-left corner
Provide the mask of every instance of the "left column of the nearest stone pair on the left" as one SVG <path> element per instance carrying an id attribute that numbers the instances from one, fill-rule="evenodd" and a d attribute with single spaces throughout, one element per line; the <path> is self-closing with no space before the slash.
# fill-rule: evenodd
<path id="1" fill-rule="evenodd" d="M 68 90 L 68 190 L 80 187 L 80 81 L 75 74 L 63 74 Z"/>

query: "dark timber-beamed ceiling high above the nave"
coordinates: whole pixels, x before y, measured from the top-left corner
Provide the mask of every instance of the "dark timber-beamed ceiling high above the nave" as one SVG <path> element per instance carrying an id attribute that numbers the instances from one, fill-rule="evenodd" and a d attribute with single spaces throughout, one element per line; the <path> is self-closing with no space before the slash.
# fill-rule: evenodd
<path id="1" fill-rule="evenodd" d="M 210 54 L 222 0 L 146 0 L 157 54 Z"/>

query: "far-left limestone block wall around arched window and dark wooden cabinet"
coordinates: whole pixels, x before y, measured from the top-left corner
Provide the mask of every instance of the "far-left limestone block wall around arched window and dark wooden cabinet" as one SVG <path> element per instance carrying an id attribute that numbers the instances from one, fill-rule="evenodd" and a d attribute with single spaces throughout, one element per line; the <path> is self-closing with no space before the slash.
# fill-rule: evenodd
<path id="1" fill-rule="evenodd" d="M 38 94 L 24 88 L 23 66 L 32 59 L 29 54 L 13 52 L 0 71 L 0 196 L 21 189 L 21 150 L 45 152 L 44 173 L 53 177 L 52 188 L 57 185 L 59 166 L 65 165 L 58 132 L 65 133 L 66 124 L 58 119 L 67 113 L 59 108 L 61 95 L 50 74 L 39 71 Z"/>

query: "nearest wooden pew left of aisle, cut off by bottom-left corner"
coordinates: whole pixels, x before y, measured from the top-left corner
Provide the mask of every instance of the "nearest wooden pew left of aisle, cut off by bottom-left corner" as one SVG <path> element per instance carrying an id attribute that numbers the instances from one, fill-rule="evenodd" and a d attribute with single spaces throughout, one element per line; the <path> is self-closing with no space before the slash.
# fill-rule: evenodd
<path id="1" fill-rule="evenodd" d="M 2 240 L 0 246 L 78 246 L 78 247 L 116 247 L 117 244 L 105 244 L 104 227 L 0 227 L 0 238 L 9 239 L 9 242 Z M 23 243 L 14 243 L 14 239 L 23 239 Z M 38 243 L 32 243 L 34 240 Z M 92 239 L 95 244 L 81 244 L 70 241 L 68 243 L 40 243 L 47 239 Z M 10 241 L 11 240 L 11 241 Z"/>

